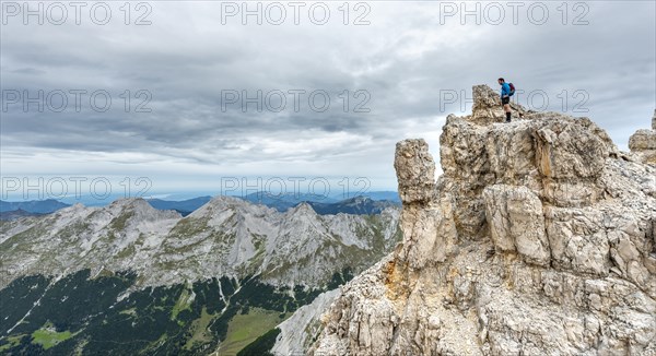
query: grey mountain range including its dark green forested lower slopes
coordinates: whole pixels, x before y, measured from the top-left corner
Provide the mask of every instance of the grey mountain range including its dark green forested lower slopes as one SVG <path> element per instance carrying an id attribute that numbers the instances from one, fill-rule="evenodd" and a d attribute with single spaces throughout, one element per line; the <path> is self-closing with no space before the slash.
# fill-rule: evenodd
<path id="1" fill-rule="evenodd" d="M 400 239 L 400 210 L 143 199 L 0 222 L 0 353 L 236 354 Z"/>

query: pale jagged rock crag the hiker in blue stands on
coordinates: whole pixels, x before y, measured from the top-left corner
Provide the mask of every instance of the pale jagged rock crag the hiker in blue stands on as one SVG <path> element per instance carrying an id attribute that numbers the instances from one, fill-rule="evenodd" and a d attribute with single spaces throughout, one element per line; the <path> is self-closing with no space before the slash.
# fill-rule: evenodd
<path id="1" fill-rule="evenodd" d="M 656 168 L 587 118 L 497 123 L 493 95 L 447 118 L 436 182 L 423 140 L 397 144 L 403 240 L 311 353 L 656 354 Z"/>

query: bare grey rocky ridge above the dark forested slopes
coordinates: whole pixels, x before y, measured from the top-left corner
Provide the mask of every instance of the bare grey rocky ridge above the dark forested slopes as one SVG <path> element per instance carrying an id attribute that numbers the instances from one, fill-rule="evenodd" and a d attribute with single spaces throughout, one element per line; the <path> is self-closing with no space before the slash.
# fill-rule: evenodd
<path id="1" fill-rule="evenodd" d="M 397 244 L 398 207 L 377 215 L 285 213 L 215 197 L 186 217 L 143 199 L 105 207 L 75 204 L 0 224 L 0 288 L 24 275 L 133 271 L 138 286 L 258 276 L 274 286 L 321 286 L 344 268 L 360 272 Z"/>

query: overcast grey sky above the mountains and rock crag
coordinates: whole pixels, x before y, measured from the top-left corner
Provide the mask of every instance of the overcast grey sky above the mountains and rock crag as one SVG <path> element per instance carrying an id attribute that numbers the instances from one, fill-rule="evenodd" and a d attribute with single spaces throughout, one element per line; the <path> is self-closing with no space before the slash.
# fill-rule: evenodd
<path id="1" fill-rule="evenodd" d="M 623 150 L 656 106 L 654 1 L 59 4 L 2 2 L 3 190 L 57 176 L 396 190 L 395 143 L 424 138 L 437 159 L 475 84 L 504 76 L 519 104 L 588 116 Z"/>

